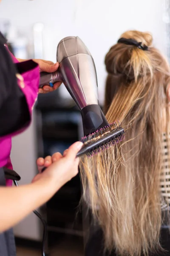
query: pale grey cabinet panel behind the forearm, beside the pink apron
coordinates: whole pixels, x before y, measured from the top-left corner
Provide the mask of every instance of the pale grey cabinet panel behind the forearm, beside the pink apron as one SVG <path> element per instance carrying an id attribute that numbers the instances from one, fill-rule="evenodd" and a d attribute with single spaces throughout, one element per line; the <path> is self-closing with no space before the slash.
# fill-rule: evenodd
<path id="1" fill-rule="evenodd" d="M 36 168 L 35 120 L 31 126 L 12 140 L 11 162 L 21 176 L 19 185 L 30 183 L 37 172 Z M 14 234 L 27 239 L 41 240 L 40 221 L 31 213 L 14 227 Z"/>

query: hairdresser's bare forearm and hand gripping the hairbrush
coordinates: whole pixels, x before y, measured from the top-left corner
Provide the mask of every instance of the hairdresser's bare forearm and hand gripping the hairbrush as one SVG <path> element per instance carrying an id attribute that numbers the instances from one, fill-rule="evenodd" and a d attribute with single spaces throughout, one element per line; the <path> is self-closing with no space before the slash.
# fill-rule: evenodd
<path id="1" fill-rule="evenodd" d="M 81 142 L 68 148 L 65 156 L 58 158 L 44 172 L 34 177 L 31 184 L 17 187 L 0 186 L 0 233 L 13 227 L 34 209 L 45 204 L 67 181 L 78 173 L 77 152 Z M 54 159 L 55 160 L 55 159 Z"/>

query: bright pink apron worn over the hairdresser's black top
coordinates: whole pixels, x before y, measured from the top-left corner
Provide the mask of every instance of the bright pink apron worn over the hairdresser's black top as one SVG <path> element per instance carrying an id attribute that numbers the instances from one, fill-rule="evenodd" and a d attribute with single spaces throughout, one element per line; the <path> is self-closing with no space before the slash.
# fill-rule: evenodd
<path id="1" fill-rule="evenodd" d="M 6 47 L 6 49 L 8 49 L 8 47 Z M 14 57 L 14 55 L 11 54 L 11 52 L 10 52 L 10 55 L 13 62 L 17 63 L 18 62 L 17 59 Z M 21 90 L 23 91 L 26 97 L 30 116 L 32 116 L 32 110 L 37 100 L 39 81 L 40 81 L 40 71 L 39 71 L 38 65 L 34 69 L 23 73 L 22 78 L 23 78 L 23 82 L 20 79 L 18 79 L 18 86 L 20 86 Z M 10 160 L 11 137 L 14 135 L 20 134 L 22 131 L 26 130 L 27 127 L 24 127 L 20 131 L 17 131 L 13 134 L 0 138 L 0 167 L 5 166 L 8 169 L 12 169 L 12 164 Z M 12 180 L 6 180 L 6 185 L 12 186 Z"/>

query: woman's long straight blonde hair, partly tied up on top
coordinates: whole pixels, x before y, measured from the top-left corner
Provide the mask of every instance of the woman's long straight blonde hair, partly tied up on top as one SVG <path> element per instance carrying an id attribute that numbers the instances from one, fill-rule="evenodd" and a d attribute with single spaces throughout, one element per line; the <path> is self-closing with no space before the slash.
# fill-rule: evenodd
<path id="1" fill-rule="evenodd" d="M 102 227 L 105 249 L 140 256 L 161 248 L 162 119 L 165 112 L 169 134 L 170 68 L 152 46 L 150 33 L 127 31 L 121 38 L 148 47 L 117 43 L 105 57 L 106 118 L 109 123 L 119 120 L 125 141 L 91 158 L 82 157 L 80 174 L 83 198 Z"/>

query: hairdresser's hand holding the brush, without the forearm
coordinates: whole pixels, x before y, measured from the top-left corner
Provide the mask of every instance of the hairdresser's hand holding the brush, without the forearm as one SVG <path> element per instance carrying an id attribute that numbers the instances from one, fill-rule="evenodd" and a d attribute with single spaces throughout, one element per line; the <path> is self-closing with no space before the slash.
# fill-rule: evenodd
<path id="1" fill-rule="evenodd" d="M 49 189 L 52 189 L 52 192 L 56 192 L 66 182 L 77 175 L 79 158 L 76 158 L 76 154 L 81 149 L 82 145 L 83 143 L 81 142 L 74 143 L 68 148 L 64 156 L 62 156 L 60 153 L 54 154 L 54 163 L 51 163 L 52 158 L 49 160 L 48 157 L 49 163 L 51 163 L 51 165 L 45 169 L 44 172 L 36 175 L 32 182 L 40 182 L 42 180 L 46 186 L 49 186 Z"/>

